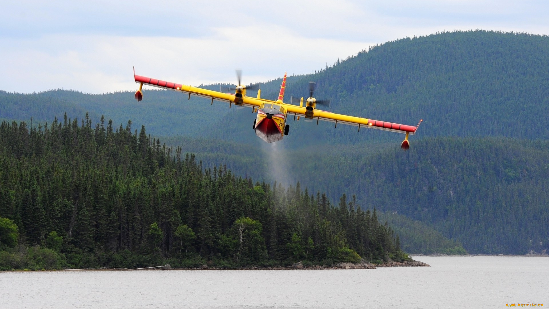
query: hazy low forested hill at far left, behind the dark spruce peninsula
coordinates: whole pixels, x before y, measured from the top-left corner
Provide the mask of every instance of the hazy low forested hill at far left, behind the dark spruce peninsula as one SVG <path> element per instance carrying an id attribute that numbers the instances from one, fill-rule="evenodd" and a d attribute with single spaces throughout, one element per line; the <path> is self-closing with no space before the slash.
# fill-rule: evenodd
<path id="1" fill-rule="evenodd" d="M 94 122 L 99 121 L 100 115 L 109 115 L 109 119 L 113 119 L 116 125 L 125 124 L 131 119 L 139 126 L 147 126 L 156 135 L 194 136 L 227 112 L 221 106 L 201 104 L 203 100 L 196 97 L 189 101 L 181 93 L 173 91 L 145 92 L 147 101 L 136 102 L 132 91 L 102 95 L 71 90 L 50 90 L 27 95 L 0 91 L 0 119 L 28 122 L 33 117 L 35 122 L 44 124 L 54 117 L 63 118 L 65 111 L 73 119 L 88 111 L 89 118 Z"/>

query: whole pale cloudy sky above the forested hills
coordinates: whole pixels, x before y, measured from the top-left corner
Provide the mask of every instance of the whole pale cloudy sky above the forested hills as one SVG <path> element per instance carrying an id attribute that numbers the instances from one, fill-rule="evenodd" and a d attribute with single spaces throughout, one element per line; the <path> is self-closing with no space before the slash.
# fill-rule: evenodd
<path id="1" fill-rule="evenodd" d="M 376 43 L 437 31 L 549 35 L 549 1 L 0 0 L 0 90 L 136 89 L 307 74 Z"/>

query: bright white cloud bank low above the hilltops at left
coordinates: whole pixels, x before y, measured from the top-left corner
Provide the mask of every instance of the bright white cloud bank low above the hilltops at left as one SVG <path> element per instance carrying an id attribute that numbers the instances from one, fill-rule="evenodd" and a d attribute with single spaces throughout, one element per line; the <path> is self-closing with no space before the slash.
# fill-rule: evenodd
<path id="1" fill-rule="evenodd" d="M 33 92 L 76 89 L 91 93 L 134 89 L 137 74 L 199 85 L 310 73 L 365 48 L 362 43 L 303 38 L 281 29 L 223 28 L 211 38 L 48 35 L 0 39 L 3 89 Z"/>

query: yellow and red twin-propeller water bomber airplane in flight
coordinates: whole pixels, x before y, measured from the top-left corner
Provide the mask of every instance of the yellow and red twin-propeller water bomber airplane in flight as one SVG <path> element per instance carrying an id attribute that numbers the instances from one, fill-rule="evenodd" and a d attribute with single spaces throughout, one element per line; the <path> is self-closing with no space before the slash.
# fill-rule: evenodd
<path id="1" fill-rule="evenodd" d="M 301 98 L 301 100 L 296 100 L 297 102 L 292 102 L 299 102 L 299 106 L 284 103 L 282 100 L 284 98 L 284 90 L 286 87 L 286 73 L 284 73 L 284 78 L 282 79 L 282 85 L 276 101 L 261 98 L 261 90 L 257 90 L 257 97 L 248 97 L 246 96 L 246 89 L 248 88 L 250 90 L 252 88 L 251 85 L 247 87 L 242 84 L 241 71 L 239 70 L 237 70 L 237 77 L 238 85 L 233 89 L 235 92 L 223 93 L 221 91 L 212 91 L 136 75 L 135 69 L 133 70 L 133 79 L 137 84 L 139 84 L 139 90 L 135 93 L 135 98 L 137 101 L 143 100 L 143 85 L 149 85 L 162 89 L 183 92 L 188 95 L 189 100 L 191 95 L 193 95 L 211 99 L 211 104 L 214 104 L 214 100 L 229 103 L 229 108 L 231 108 L 232 104 L 240 107 L 251 107 L 253 108 L 253 112 L 257 113 L 257 117 L 254 120 L 255 134 L 268 143 L 282 140 L 284 135 L 288 135 L 290 125 L 286 124 L 286 122 L 288 117 L 293 115 L 294 120 L 296 120 L 296 118 L 297 120 L 304 118 L 306 121 L 316 119 L 316 124 L 318 124 L 319 120 L 323 120 L 335 123 L 334 127 L 337 127 L 338 124 L 354 125 L 358 126 L 358 131 L 360 131 L 361 128 L 366 127 L 404 133 L 406 134 L 406 137 L 404 141 L 402 141 L 400 147 L 403 150 L 408 150 L 408 148 L 410 148 L 408 135 L 414 135 L 419 127 L 419 124 L 423 121 L 419 120 L 419 123 L 416 126 L 411 126 L 322 111 L 316 107 L 328 106 L 329 101 L 316 100 L 312 96 L 316 85 L 314 82 L 309 83 L 309 97 L 305 100 L 305 102 L 304 98 Z M 294 101 L 293 98 L 291 101 Z"/>

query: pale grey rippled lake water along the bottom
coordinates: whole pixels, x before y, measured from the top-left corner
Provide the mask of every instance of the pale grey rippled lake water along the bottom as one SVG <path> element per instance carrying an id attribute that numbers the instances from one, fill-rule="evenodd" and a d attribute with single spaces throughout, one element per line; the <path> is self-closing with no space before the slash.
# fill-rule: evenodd
<path id="1" fill-rule="evenodd" d="M 0 273 L 0 308 L 549 307 L 548 257 L 417 257 L 356 270 Z"/>

